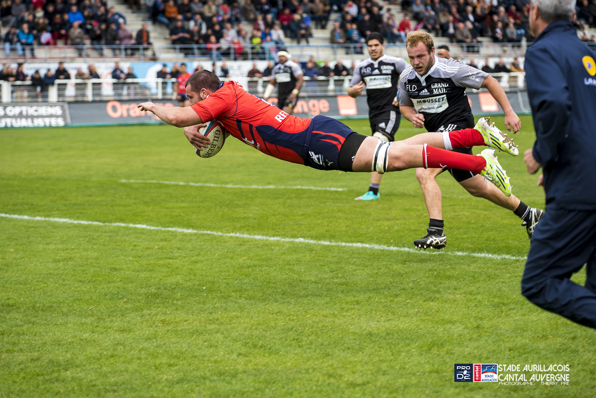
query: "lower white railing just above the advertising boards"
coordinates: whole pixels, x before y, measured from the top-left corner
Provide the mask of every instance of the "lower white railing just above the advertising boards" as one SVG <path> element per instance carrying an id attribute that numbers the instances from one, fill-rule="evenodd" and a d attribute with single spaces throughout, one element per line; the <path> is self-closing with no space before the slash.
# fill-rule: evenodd
<path id="1" fill-rule="evenodd" d="M 524 72 L 492 73 L 505 91 L 520 91 L 525 87 Z M 222 81 L 238 81 L 251 94 L 262 97 L 269 78 L 221 78 Z M 347 95 L 352 76 L 305 77 L 300 95 L 319 97 L 324 95 Z M 11 102 L 70 102 L 108 100 L 176 100 L 176 79 L 70 79 L 57 80 L 45 87 L 25 82 L 0 82 L 2 103 Z M 485 89 L 482 89 L 483 91 Z M 468 89 L 470 92 L 476 90 Z M 362 91 L 366 95 L 366 90 Z M 274 91 L 277 95 L 277 87 Z"/>

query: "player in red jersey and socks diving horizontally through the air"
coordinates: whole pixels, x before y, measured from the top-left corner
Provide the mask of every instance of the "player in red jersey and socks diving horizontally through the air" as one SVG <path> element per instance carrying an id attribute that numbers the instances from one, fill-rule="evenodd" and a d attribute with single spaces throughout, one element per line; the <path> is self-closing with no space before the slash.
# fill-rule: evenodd
<path id="1" fill-rule="evenodd" d="M 499 165 L 494 149 L 468 155 L 444 147 L 491 146 L 514 154 L 513 141 L 497 128 L 486 127 L 427 132 L 404 141 L 386 143 L 367 137 L 336 119 L 316 116 L 300 119 L 245 91 L 237 82 L 220 82 L 208 70 L 195 72 L 187 81 L 190 107 L 165 107 L 151 102 L 139 104 L 167 124 L 185 127 L 184 134 L 197 149 L 209 146 L 209 138 L 198 132 L 203 122 L 217 120 L 238 140 L 266 155 L 319 170 L 379 173 L 408 168 L 458 168 L 485 175 L 505 195 L 511 185 Z"/>

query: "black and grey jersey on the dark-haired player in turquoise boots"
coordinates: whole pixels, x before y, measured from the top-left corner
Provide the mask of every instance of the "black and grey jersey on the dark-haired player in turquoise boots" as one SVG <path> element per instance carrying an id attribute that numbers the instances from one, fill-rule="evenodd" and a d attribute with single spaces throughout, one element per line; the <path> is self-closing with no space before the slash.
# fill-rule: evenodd
<path id="1" fill-rule="evenodd" d="M 367 58 L 354 68 L 350 86 L 364 81 L 367 87 L 368 115 L 372 118 L 387 110 L 399 113 L 399 107 L 393 106 L 393 98 L 398 94 L 399 74 L 408 67 L 403 58 L 383 55 L 376 61 Z"/>

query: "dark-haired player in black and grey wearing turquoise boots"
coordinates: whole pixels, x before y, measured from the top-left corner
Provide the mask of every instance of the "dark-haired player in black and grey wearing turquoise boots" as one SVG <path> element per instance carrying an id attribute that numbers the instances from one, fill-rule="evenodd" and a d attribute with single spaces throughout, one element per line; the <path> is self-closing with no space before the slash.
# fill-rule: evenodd
<path id="1" fill-rule="evenodd" d="M 399 74 L 408 66 L 403 58 L 385 55 L 383 36 L 378 32 L 367 36 L 369 58 L 354 68 L 354 75 L 347 95 L 356 98 L 367 88 L 368 119 L 373 137 L 381 141 L 395 141 L 402 115 L 399 113 Z M 373 172 L 368 192 L 355 200 L 378 199 L 381 174 Z"/>

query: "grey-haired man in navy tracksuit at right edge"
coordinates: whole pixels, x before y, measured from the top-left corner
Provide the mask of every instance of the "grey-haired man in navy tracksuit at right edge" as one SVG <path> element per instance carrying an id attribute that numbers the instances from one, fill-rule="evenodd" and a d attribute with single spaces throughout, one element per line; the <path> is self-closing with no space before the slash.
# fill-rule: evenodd
<path id="1" fill-rule="evenodd" d="M 570 22 L 575 0 L 532 0 L 525 58 L 536 129 L 527 169 L 543 168 L 547 208 L 534 230 L 522 294 L 596 328 L 596 54 Z M 586 265 L 585 286 L 570 280 Z"/>

